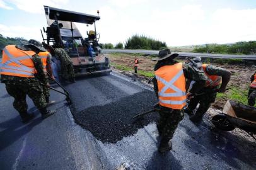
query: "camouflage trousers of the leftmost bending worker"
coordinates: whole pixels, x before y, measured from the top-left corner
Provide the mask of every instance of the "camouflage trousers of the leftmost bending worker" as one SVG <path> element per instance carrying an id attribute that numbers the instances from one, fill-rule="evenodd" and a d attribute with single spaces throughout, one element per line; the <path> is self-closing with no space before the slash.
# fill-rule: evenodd
<path id="1" fill-rule="evenodd" d="M 6 91 L 10 96 L 15 98 L 13 101 L 14 108 L 19 111 L 27 111 L 26 95 L 28 95 L 38 109 L 46 106 L 43 89 L 40 84 L 6 84 Z"/>

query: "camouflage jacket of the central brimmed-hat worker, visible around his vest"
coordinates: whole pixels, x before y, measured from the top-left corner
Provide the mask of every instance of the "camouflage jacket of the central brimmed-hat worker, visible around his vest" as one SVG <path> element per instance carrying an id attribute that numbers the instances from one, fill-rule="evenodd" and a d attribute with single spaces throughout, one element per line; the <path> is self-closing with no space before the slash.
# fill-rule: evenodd
<path id="1" fill-rule="evenodd" d="M 155 67 L 154 71 L 157 71 L 160 69 L 160 67 L 163 67 L 165 65 L 174 65 L 178 62 L 175 60 L 165 60 L 165 61 L 159 61 Z M 195 86 L 192 87 L 190 90 L 191 93 L 197 93 L 203 86 L 206 84 L 207 77 L 205 76 L 204 72 L 192 67 L 189 64 L 182 64 L 183 67 L 183 74 L 186 79 L 189 79 L 191 81 L 195 81 Z M 156 96 L 158 97 L 158 84 L 156 77 L 153 78 L 153 84 L 154 84 L 154 91 L 156 93 Z"/>

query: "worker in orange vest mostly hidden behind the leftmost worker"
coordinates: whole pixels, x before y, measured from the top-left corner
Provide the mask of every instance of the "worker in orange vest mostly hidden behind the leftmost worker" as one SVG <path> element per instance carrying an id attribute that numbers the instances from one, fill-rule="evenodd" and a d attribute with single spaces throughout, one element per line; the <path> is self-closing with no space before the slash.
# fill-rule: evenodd
<path id="1" fill-rule="evenodd" d="M 38 42 L 37 40 L 29 40 L 28 43 L 32 43 L 33 45 L 36 45 L 37 47 L 42 47 L 42 43 Z M 50 52 L 45 51 L 45 52 L 39 52 L 38 55 L 41 57 L 43 66 L 44 66 L 44 73 L 46 76 L 47 84 L 49 84 L 50 80 L 49 79 L 55 79 L 53 74 L 52 74 L 52 55 Z M 44 96 L 45 96 L 45 101 L 47 105 L 51 105 L 55 103 L 55 101 L 50 101 L 50 88 L 49 86 L 42 86 L 44 90 Z"/>

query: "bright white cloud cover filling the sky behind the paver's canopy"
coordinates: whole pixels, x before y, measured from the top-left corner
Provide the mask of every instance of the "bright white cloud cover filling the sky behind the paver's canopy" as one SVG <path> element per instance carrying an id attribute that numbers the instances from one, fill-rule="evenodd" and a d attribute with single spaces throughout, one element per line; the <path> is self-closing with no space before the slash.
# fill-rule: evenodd
<path id="1" fill-rule="evenodd" d="M 63 8 L 63 2 L 69 4 L 67 0 L 35 2 L 9 0 L 6 2 L 15 4 L 18 8 L 30 13 L 44 13 L 43 4 L 57 6 L 57 8 Z M 99 9 L 101 20 L 96 22 L 101 43 L 125 42 L 127 38 L 135 34 L 156 38 L 166 42 L 169 46 L 256 40 L 256 9 L 216 9 L 210 12 L 204 6 L 190 4 L 166 11 L 160 6 L 143 9 L 141 7 L 145 3 L 148 3 L 148 6 L 156 3 L 144 2 L 144 0 L 127 2 L 109 0 L 108 2 Z M 134 4 L 141 8 L 141 11 L 138 8 L 127 8 Z M 118 8 L 119 6 L 121 8 Z M 76 8 L 73 10 L 76 11 Z M 95 9 L 86 9 L 86 13 L 95 14 Z M 45 23 L 45 20 L 40 22 Z M 0 25 L 0 32 L 9 37 L 42 40 L 39 30 L 41 26 L 38 25 L 35 28 L 29 25 L 27 27 Z M 93 26 L 87 28 L 86 25 L 78 25 L 78 27 L 84 37 L 87 36 L 86 30 L 93 29 Z"/>

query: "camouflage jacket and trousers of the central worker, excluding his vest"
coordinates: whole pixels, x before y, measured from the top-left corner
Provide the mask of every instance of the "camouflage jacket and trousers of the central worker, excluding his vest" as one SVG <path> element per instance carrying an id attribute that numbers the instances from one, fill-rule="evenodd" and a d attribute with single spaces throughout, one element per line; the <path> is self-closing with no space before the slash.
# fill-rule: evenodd
<path id="1" fill-rule="evenodd" d="M 158 70 L 160 67 L 164 65 L 174 65 L 178 62 L 175 60 L 165 60 L 159 61 L 154 67 L 154 71 Z M 191 93 L 196 93 L 199 90 L 199 87 L 204 86 L 207 77 L 204 75 L 204 72 L 192 67 L 188 64 L 183 64 L 183 74 L 186 79 L 191 79 L 195 81 L 197 86 L 194 86 L 191 89 Z M 158 97 L 158 84 L 156 77 L 153 78 L 154 83 L 154 91 L 156 96 Z M 166 108 L 164 106 L 160 106 L 160 120 L 158 121 L 157 127 L 158 132 L 162 137 L 162 141 L 168 142 L 173 137 L 173 133 L 175 132 L 178 123 L 183 119 L 183 109 L 182 110 L 172 110 L 170 108 Z"/>

